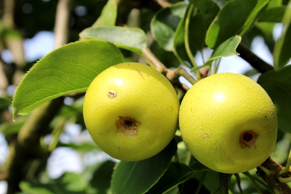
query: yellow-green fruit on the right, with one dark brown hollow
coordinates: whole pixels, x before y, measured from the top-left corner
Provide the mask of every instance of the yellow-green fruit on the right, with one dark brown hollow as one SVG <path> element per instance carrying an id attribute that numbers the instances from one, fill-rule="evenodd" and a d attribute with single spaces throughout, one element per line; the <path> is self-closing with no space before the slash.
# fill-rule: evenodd
<path id="1" fill-rule="evenodd" d="M 194 84 L 182 100 L 179 126 L 193 156 L 222 173 L 258 167 L 277 137 L 277 115 L 268 94 L 257 82 L 234 73 Z"/>

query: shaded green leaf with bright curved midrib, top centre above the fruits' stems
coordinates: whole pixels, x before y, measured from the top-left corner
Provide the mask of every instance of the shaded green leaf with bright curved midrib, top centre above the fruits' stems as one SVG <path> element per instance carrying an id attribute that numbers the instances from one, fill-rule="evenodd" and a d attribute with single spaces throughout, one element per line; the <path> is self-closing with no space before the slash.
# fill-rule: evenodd
<path id="1" fill-rule="evenodd" d="M 195 0 L 190 2 L 191 4 L 187 7 L 175 32 L 173 52 L 181 63 L 186 61 L 193 64 L 193 56 L 196 51 L 201 51 L 205 47 L 204 40 L 207 29 L 218 13 L 219 7 L 212 0 Z"/>

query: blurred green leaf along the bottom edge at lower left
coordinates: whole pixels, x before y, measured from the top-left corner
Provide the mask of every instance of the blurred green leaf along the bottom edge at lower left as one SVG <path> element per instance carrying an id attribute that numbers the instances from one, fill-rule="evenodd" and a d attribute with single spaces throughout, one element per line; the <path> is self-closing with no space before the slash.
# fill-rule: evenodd
<path id="1" fill-rule="evenodd" d="M 65 173 L 47 184 L 39 181 L 21 181 L 19 187 L 27 194 L 84 194 L 87 184 L 81 175 Z"/>

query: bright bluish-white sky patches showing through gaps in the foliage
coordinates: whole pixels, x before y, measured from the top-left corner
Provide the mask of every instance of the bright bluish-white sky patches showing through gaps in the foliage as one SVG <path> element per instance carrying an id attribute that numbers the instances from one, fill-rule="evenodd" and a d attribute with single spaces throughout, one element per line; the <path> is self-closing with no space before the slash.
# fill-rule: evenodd
<path id="1" fill-rule="evenodd" d="M 277 40 L 282 32 L 282 25 L 278 24 L 274 30 L 274 39 Z M 53 32 L 38 32 L 31 39 L 26 39 L 24 41 L 25 57 L 27 61 L 38 61 L 40 58 L 48 54 L 53 50 L 54 47 L 54 35 Z M 257 54 L 261 59 L 269 64 L 273 64 L 273 57 L 270 51 L 267 49 L 263 39 L 261 37 L 256 37 L 251 45 L 252 51 Z M 210 54 L 210 50 L 205 50 L 206 54 Z M 1 56 L 5 62 L 12 61 L 12 55 L 8 50 L 4 50 Z M 203 64 L 201 56 L 195 56 L 197 64 Z M 242 60 L 239 56 L 231 56 L 223 58 L 218 73 L 221 72 L 232 72 L 243 74 L 247 70 L 252 69 L 252 67 Z M 252 79 L 256 80 L 258 77 Z M 181 81 L 185 81 L 181 79 Z M 186 84 L 189 85 L 187 81 Z M 189 85 L 191 86 L 191 85 Z M 13 95 L 13 88 L 10 95 Z M 49 136 L 47 141 L 49 141 Z M 61 141 L 69 143 L 71 141 L 92 141 L 87 131 L 81 131 L 81 127 L 76 124 L 70 124 L 65 129 L 64 135 L 61 136 Z M 3 164 L 5 158 L 8 156 L 8 146 L 4 136 L 0 134 L 0 164 Z M 85 158 L 85 160 L 84 160 Z M 64 172 L 81 172 L 84 165 L 93 164 L 100 160 L 107 160 L 109 156 L 104 153 L 89 153 L 88 155 L 81 158 L 80 153 L 77 151 L 60 147 L 52 152 L 48 161 L 48 174 L 50 178 L 58 178 Z M 87 163 L 86 163 L 87 162 Z M 0 181 L 0 194 L 5 194 L 7 188 L 6 181 Z"/>

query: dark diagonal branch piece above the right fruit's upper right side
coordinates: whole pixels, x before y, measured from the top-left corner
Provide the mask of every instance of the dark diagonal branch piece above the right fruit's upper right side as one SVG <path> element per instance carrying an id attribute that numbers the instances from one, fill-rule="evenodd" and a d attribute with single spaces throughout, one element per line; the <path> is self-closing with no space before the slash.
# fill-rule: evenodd
<path id="1" fill-rule="evenodd" d="M 255 55 L 249 48 L 242 43 L 239 44 L 237 52 L 240 53 L 240 57 L 257 69 L 260 73 L 273 70 L 274 67 L 264 62 L 261 58 Z"/>

